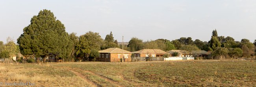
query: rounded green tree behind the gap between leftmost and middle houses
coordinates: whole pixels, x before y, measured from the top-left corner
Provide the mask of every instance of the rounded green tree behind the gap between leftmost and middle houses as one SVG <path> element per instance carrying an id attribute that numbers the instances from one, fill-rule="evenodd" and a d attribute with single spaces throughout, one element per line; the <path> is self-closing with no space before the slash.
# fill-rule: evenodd
<path id="1" fill-rule="evenodd" d="M 130 48 L 131 52 L 141 50 L 141 49 L 143 49 L 143 41 L 136 37 L 132 37 L 132 39 L 129 41 L 129 44 L 127 47 Z"/>

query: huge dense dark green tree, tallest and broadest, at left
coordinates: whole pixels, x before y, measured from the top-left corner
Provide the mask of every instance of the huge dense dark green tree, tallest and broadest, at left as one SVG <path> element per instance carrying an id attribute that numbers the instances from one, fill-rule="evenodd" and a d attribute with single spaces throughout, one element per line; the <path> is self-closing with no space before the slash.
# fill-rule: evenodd
<path id="1" fill-rule="evenodd" d="M 69 57 L 73 44 L 64 24 L 46 9 L 32 17 L 30 25 L 23 29 L 17 43 L 24 56 L 43 58 L 53 54 L 63 58 Z"/>

